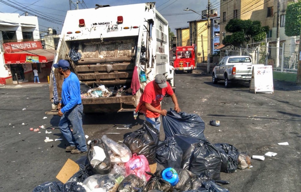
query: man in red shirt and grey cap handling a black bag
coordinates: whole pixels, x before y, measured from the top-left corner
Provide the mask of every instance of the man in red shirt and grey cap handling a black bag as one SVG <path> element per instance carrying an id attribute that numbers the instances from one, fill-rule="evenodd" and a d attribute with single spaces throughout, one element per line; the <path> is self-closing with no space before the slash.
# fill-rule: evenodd
<path id="1" fill-rule="evenodd" d="M 178 99 L 163 74 L 157 74 L 154 81 L 147 83 L 136 108 L 136 113 L 138 111 L 143 113 L 146 121 L 150 122 L 158 131 L 160 131 L 161 125 L 160 115 L 166 116 L 167 114 L 167 110 L 161 109 L 161 101 L 166 94 L 171 96 L 175 104 L 175 111 L 180 112 Z"/>

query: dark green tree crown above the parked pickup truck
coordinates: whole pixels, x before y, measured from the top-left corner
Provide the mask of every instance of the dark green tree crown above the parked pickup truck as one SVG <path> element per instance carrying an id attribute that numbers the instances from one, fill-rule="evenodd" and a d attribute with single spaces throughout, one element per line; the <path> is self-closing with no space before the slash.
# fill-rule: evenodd
<path id="1" fill-rule="evenodd" d="M 225 30 L 232 34 L 225 36 L 223 44 L 235 50 L 239 47 L 246 47 L 245 43 L 250 41 L 260 42 L 265 38 L 269 27 L 261 26 L 260 21 L 231 19 L 225 26 Z"/>

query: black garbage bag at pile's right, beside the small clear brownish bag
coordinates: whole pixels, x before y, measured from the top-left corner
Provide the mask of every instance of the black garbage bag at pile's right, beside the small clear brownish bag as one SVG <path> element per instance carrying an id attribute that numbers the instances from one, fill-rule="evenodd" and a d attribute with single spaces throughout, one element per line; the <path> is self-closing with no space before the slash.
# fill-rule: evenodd
<path id="1" fill-rule="evenodd" d="M 238 150 L 233 145 L 227 143 L 216 143 L 214 146 L 219 150 L 222 158 L 221 171 L 225 173 L 235 172 L 238 166 Z"/>

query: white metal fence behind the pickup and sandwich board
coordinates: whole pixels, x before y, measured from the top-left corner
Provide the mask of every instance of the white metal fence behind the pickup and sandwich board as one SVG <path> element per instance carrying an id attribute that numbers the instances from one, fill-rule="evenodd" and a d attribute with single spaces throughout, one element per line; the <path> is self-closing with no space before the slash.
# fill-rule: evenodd
<path id="1" fill-rule="evenodd" d="M 254 64 L 272 65 L 273 71 L 297 73 L 299 45 L 283 43 L 280 48 L 259 46 L 257 49 L 240 48 L 239 51 L 222 50 L 221 58 L 225 56 L 250 56 Z"/>

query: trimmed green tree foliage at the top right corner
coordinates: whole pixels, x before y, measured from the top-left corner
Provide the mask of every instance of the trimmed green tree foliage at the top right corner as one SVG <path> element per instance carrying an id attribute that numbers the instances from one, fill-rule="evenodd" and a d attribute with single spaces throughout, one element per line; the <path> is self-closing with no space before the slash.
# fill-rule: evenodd
<path id="1" fill-rule="evenodd" d="M 289 2 L 286 8 L 284 33 L 286 36 L 299 36 L 301 26 L 301 1 Z"/>

